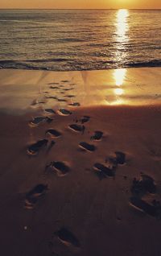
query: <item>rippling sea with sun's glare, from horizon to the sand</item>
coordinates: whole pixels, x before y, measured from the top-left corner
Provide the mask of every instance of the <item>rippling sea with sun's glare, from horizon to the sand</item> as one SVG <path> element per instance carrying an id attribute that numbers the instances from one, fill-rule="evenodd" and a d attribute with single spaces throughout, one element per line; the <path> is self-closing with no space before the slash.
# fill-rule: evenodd
<path id="1" fill-rule="evenodd" d="M 0 67 L 161 66 L 161 10 L 0 10 Z"/>

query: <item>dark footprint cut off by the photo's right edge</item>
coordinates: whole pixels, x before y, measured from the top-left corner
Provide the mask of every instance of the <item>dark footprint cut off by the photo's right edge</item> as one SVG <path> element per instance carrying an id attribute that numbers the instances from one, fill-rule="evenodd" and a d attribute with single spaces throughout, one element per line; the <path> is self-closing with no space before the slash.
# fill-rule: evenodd
<path id="1" fill-rule="evenodd" d="M 133 196 L 130 197 L 130 205 L 152 217 L 161 217 L 161 204 L 158 200 L 153 200 L 151 204 L 148 204 L 145 200 Z"/>

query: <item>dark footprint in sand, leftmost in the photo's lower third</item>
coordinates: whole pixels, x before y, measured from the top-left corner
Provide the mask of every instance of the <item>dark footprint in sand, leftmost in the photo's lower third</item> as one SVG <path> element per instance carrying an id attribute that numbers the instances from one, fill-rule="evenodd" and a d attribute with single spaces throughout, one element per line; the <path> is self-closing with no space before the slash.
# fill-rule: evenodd
<path id="1" fill-rule="evenodd" d="M 30 192 L 27 193 L 25 197 L 25 208 L 26 209 L 33 209 L 37 200 L 40 196 L 47 191 L 47 185 L 45 184 L 38 184 L 35 188 L 31 189 Z"/>

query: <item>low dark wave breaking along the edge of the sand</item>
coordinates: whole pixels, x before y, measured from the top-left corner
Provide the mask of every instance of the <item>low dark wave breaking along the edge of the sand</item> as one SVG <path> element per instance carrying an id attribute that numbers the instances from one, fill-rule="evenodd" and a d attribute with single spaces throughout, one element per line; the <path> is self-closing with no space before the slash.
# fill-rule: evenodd
<path id="1" fill-rule="evenodd" d="M 92 61 L 86 63 L 82 61 L 69 60 L 67 58 L 52 58 L 47 60 L 0 60 L 0 68 L 51 70 L 51 71 L 83 71 L 101 70 L 114 68 L 150 68 L 161 67 L 161 60 L 151 60 L 145 62 L 132 62 L 119 64 L 116 61 Z"/>

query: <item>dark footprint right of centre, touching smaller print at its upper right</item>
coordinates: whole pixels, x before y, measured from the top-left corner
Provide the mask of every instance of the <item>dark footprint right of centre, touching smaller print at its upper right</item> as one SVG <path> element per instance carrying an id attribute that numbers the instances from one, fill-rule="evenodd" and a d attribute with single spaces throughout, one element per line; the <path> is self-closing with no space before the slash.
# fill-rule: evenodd
<path id="1" fill-rule="evenodd" d="M 103 178 L 114 177 L 115 175 L 115 169 L 110 169 L 109 167 L 106 167 L 102 163 L 95 163 L 93 168 L 97 171 L 97 176 L 102 180 Z"/>

